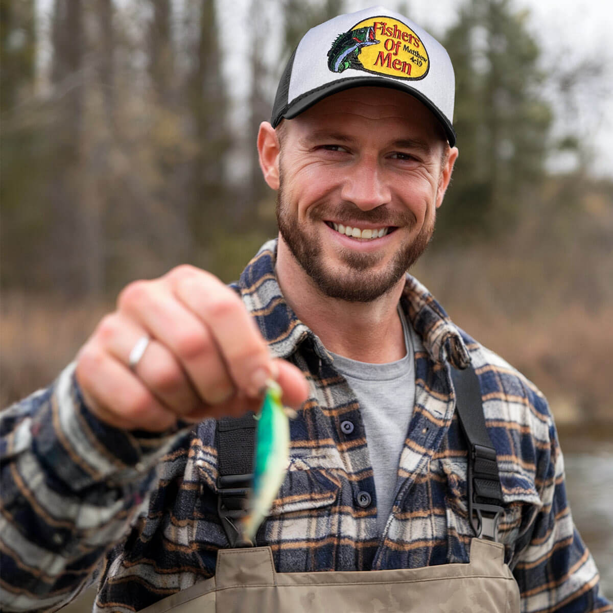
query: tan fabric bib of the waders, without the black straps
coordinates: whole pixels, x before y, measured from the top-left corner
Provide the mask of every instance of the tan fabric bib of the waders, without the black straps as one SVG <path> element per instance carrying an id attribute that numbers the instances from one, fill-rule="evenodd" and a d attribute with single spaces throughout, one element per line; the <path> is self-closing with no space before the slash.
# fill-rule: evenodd
<path id="1" fill-rule="evenodd" d="M 500 543 L 473 538 L 469 564 L 277 573 L 270 547 L 220 549 L 215 576 L 146 613 L 519 613 Z"/>

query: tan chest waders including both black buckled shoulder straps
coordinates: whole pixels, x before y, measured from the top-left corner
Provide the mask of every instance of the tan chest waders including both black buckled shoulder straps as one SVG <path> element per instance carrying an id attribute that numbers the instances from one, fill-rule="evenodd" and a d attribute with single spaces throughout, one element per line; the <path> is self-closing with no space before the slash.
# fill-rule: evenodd
<path id="1" fill-rule="evenodd" d="M 270 547 L 242 547 L 232 521 L 245 512 L 255 421 L 225 418 L 218 424 L 218 507 L 231 548 L 218 551 L 215 576 L 142 613 L 519 613 L 519 588 L 496 542 L 503 498 L 479 379 L 472 368 L 451 368 L 451 376 L 469 450 L 468 512 L 476 534 L 470 563 L 277 573 Z"/>

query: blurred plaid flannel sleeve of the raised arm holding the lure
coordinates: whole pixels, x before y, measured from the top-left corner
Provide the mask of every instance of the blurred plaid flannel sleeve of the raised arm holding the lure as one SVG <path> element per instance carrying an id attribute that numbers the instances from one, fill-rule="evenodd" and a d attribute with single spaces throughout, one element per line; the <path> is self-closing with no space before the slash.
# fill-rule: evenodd
<path id="1" fill-rule="evenodd" d="M 126 432 L 86 408 L 69 365 L 0 413 L 0 609 L 55 611 L 94 580 L 189 432 Z"/>

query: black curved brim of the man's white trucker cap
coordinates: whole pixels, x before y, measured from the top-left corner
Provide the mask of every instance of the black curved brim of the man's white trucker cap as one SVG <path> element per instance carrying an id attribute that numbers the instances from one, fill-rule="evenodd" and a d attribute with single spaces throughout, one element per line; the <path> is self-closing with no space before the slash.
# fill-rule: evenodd
<path id="1" fill-rule="evenodd" d="M 441 112 L 441 110 L 430 102 L 430 100 L 424 96 L 421 92 L 417 91 L 410 85 L 406 85 L 405 83 L 400 83 L 398 81 L 388 80 L 381 77 L 345 77 L 338 81 L 332 81 L 330 83 L 326 83 L 326 85 L 314 89 L 313 91 L 308 91 L 302 96 L 297 97 L 291 104 L 287 105 L 284 109 L 281 109 L 276 115 L 273 117 L 272 126 L 276 128 L 279 122 L 282 119 L 292 119 L 300 113 L 303 113 L 305 110 L 312 107 L 316 102 L 331 96 L 332 94 L 336 94 L 339 91 L 343 91 L 345 89 L 351 89 L 354 87 L 367 87 L 367 86 L 375 86 L 375 87 L 387 87 L 390 89 L 398 89 L 399 91 L 404 91 L 409 96 L 413 96 L 419 102 L 425 105 L 430 112 L 436 117 L 441 126 L 445 131 L 445 135 L 447 136 L 447 140 L 449 141 L 449 147 L 454 147 L 455 145 L 455 131 L 453 126 L 447 120 L 446 116 Z"/>

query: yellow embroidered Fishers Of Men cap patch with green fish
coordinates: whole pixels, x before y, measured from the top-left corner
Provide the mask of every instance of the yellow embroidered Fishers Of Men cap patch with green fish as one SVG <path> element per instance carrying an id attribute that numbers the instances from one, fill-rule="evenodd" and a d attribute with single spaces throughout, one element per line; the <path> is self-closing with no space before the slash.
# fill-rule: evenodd
<path id="1" fill-rule="evenodd" d="M 428 73 L 430 60 L 409 26 L 390 17 L 370 17 L 337 37 L 328 51 L 328 67 L 416 80 Z"/>

